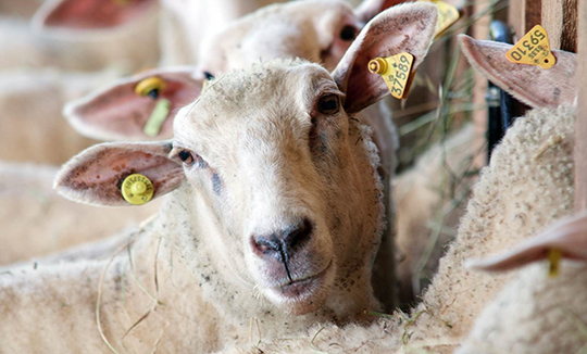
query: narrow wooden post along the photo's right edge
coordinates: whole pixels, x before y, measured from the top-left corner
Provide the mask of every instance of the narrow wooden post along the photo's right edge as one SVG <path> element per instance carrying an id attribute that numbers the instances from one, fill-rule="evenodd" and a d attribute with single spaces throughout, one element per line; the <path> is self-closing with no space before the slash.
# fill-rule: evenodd
<path id="1" fill-rule="evenodd" d="M 587 3 L 578 5 L 578 67 L 577 77 L 587 75 Z M 575 117 L 575 211 L 587 208 L 587 83 L 579 81 Z"/>

